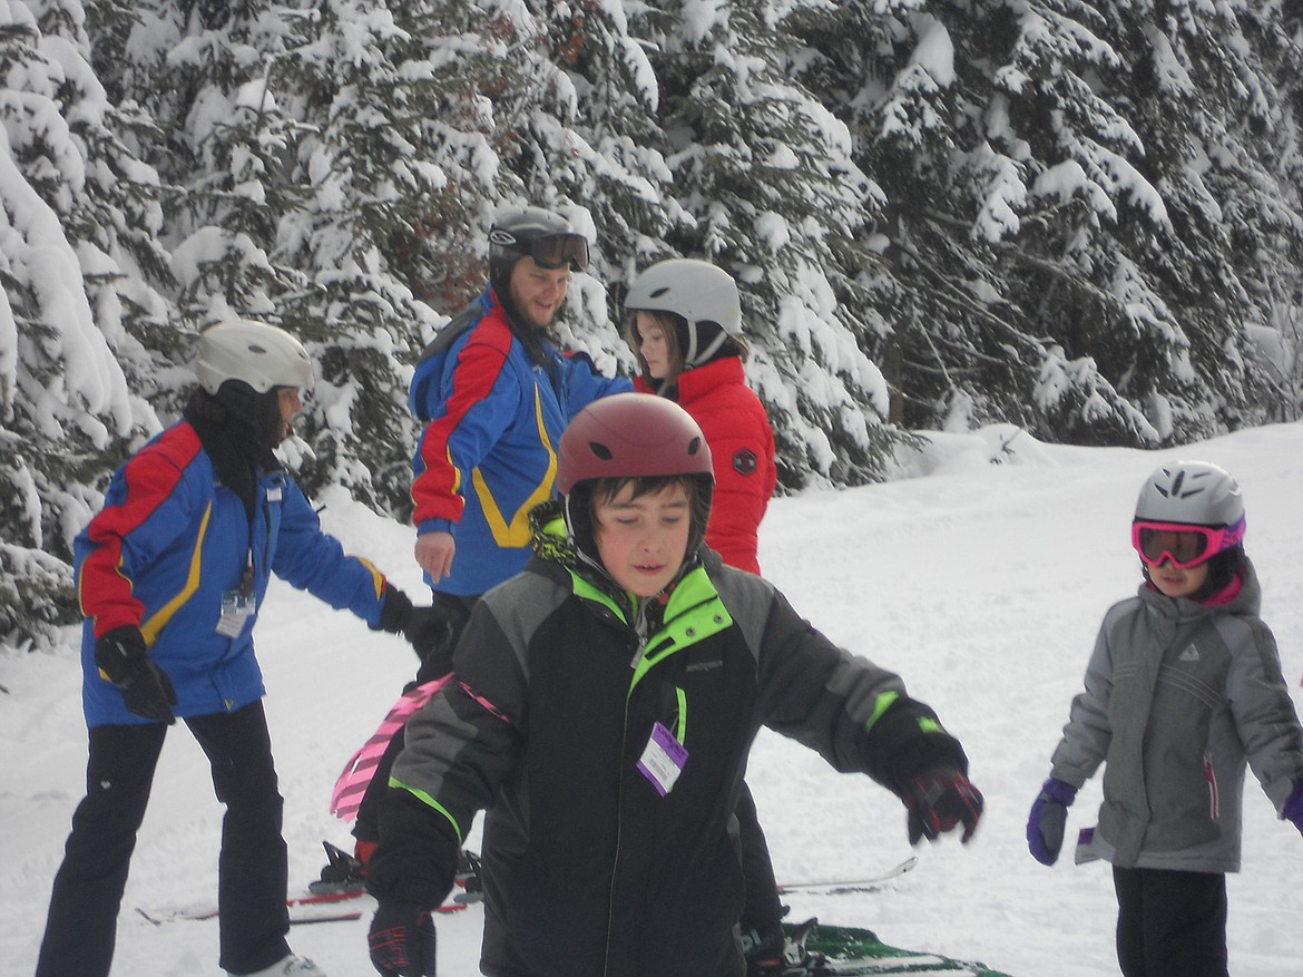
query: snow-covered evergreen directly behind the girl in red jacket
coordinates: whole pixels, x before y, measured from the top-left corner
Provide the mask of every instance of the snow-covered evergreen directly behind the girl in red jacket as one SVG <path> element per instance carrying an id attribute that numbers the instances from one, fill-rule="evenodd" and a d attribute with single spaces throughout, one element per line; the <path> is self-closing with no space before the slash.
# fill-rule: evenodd
<path id="1" fill-rule="evenodd" d="M 741 287 L 748 375 L 774 423 L 780 478 L 881 477 L 900 435 L 883 423 L 887 387 L 864 352 L 885 330 L 868 301 L 878 189 L 852 162 L 846 125 L 791 77 L 800 52 L 775 5 L 644 10 L 675 199 L 692 219 L 670 242 Z"/>

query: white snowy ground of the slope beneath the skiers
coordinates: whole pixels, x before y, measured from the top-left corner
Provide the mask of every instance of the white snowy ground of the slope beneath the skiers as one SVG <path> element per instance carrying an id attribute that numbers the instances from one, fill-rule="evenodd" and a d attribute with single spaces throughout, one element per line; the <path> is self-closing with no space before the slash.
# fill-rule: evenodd
<path id="1" fill-rule="evenodd" d="M 1001 444 L 1012 436 L 1007 452 Z M 1003 464 L 990 464 L 998 456 Z M 932 703 L 972 758 L 988 814 L 968 847 L 919 849 L 920 865 L 885 891 L 794 896 L 792 916 L 869 926 L 889 943 L 985 961 L 1014 977 L 1115 974 L 1115 903 L 1108 866 L 1036 864 L 1024 821 L 1067 718 L 1105 608 L 1134 591 L 1128 522 L 1143 477 L 1160 461 L 1229 468 L 1248 507 L 1247 547 L 1265 590 L 1264 617 L 1303 703 L 1303 425 L 1259 429 L 1181 451 L 1041 446 L 1012 429 L 941 435 L 919 477 L 780 499 L 761 529 L 761 564 L 817 627 L 890 666 Z M 354 552 L 421 593 L 407 528 L 343 495 L 322 517 Z M 326 812 L 344 759 L 374 729 L 416 663 L 394 638 L 274 585 L 258 624 L 267 675 L 291 878 L 306 885 L 321 839 L 349 845 Z M 69 647 L 0 651 L 0 974 L 31 974 L 50 883 L 82 796 L 85 729 Z M 846 878 L 904 858 L 904 813 L 883 789 L 842 776 L 765 733 L 749 782 L 780 879 Z M 1276 819 L 1250 778 L 1244 870 L 1230 878 L 1235 977 L 1303 973 L 1303 838 Z M 1093 823 L 1098 778 L 1070 831 Z M 136 908 L 215 898 L 222 809 L 184 727 L 169 736 L 132 866 L 115 974 L 220 977 L 216 924 L 155 927 Z M 481 912 L 440 918 L 443 974 L 474 974 Z M 366 922 L 296 927 L 292 942 L 332 977 L 371 973 Z"/>

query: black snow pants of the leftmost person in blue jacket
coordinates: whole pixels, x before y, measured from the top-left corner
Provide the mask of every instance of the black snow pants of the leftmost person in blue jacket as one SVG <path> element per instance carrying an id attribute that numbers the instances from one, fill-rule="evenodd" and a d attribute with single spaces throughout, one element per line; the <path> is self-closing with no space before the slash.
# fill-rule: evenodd
<path id="1" fill-rule="evenodd" d="M 185 723 L 227 808 L 218 861 L 219 963 L 231 973 L 253 973 L 289 955 L 284 801 L 267 719 L 259 701 Z M 86 797 L 55 875 L 36 977 L 108 977 L 136 835 L 165 735 L 162 723 L 90 729 Z"/>

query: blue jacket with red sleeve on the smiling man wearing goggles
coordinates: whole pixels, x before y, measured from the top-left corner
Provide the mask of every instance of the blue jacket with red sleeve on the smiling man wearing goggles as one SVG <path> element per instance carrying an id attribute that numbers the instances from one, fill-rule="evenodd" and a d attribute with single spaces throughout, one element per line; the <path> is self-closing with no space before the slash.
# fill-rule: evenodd
<path id="1" fill-rule="evenodd" d="M 493 289 L 439 331 L 412 376 L 426 422 L 412 460 L 417 535 L 452 533 L 461 556 L 439 590 L 473 597 L 524 569 L 529 511 L 551 498 L 556 443 L 598 397 L 633 388 L 542 340 L 534 362 Z M 429 574 L 426 574 L 429 582 Z"/>

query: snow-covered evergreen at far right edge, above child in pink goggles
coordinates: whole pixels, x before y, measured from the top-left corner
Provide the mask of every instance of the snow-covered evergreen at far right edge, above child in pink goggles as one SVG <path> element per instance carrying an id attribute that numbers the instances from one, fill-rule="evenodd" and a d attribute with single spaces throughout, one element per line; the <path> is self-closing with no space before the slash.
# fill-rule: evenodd
<path id="1" fill-rule="evenodd" d="M 1303 284 L 1298 20 L 1290 29 L 1280 7 L 1248 0 L 1151 0 L 1105 9 L 1104 25 L 1127 65 L 1115 100 L 1173 227 L 1147 271 L 1170 293 L 1199 378 L 1170 396 L 1175 434 L 1280 417 L 1290 395 L 1253 336 L 1283 339 L 1278 313 Z"/>

